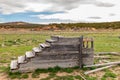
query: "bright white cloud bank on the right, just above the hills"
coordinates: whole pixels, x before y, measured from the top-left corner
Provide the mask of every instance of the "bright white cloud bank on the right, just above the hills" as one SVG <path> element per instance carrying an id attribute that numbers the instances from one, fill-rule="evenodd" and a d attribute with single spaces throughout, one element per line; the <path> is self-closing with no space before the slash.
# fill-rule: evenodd
<path id="1" fill-rule="evenodd" d="M 119 0 L 116 0 L 120 3 Z M 107 2 L 104 1 L 105 3 Z M 103 3 L 104 3 L 103 2 Z M 112 3 L 112 2 L 110 2 Z M 113 7 L 99 7 L 91 4 L 79 5 L 77 8 L 67 11 L 67 13 L 58 13 L 52 15 L 38 15 L 41 19 L 62 19 L 62 20 L 74 20 L 75 22 L 87 21 L 87 22 L 106 22 L 106 21 L 119 21 L 120 20 L 120 5 L 114 4 Z M 110 16 L 110 14 L 115 14 Z M 94 17 L 94 18 L 90 18 Z M 99 17 L 96 19 L 95 17 Z"/>

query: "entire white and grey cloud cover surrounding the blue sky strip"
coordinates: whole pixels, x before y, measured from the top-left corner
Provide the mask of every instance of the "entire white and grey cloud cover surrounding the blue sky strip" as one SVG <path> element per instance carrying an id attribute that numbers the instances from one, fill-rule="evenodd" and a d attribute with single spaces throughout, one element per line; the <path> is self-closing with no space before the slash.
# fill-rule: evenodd
<path id="1" fill-rule="evenodd" d="M 40 19 L 61 21 L 120 20 L 120 0 L 0 0 L 0 14 L 20 12 L 63 11 L 52 15 L 37 15 Z M 115 14 L 110 16 L 111 14 Z M 99 19 L 97 19 L 99 18 Z"/>

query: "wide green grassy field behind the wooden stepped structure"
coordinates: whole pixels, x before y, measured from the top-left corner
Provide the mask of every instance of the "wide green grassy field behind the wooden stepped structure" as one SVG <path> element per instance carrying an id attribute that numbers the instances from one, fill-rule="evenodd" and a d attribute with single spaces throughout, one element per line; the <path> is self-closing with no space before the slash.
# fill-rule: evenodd
<path id="1" fill-rule="evenodd" d="M 95 52 L 120 52 L 120 39 L 118 38 L 120 32 L 112 31 L 40 31 L 26 34 L 0 34 L 0 63 L 9 63 L 13 57 L 18 57 L 25 54 L 26 51 L 32 50 L 33 47 L 38 46 L 39 43 L 49 39 L 51 35 L 62 36 L 80 36 L 94 38 Z M 2 46 L 4 44 L 5 46 Z"/>

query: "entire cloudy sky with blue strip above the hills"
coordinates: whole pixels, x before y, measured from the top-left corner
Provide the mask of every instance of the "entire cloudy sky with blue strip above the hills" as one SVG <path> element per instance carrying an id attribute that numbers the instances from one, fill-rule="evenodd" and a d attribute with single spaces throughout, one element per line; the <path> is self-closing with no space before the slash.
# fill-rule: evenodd
<path id="1" fill-rule="evenodd" d="M 0 0 L 0 23 L 120 21 L 120 0 Z"/>

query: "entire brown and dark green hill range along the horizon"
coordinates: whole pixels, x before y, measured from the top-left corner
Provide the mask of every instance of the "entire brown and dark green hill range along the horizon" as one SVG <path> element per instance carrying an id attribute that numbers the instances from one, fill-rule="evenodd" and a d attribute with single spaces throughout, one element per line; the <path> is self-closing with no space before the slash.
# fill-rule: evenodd
<path id="1" fill-rule="evenodd" d="M 27 22 L 8 22 L 0 23 L 0 28 L 45 28 L 46 29 L 80 29 L 80 28 L 105 28 L 120 29 L 120 22 L 103 22 L 103 23 L 61 23 L 61 24 L 33 24 Z"/>

